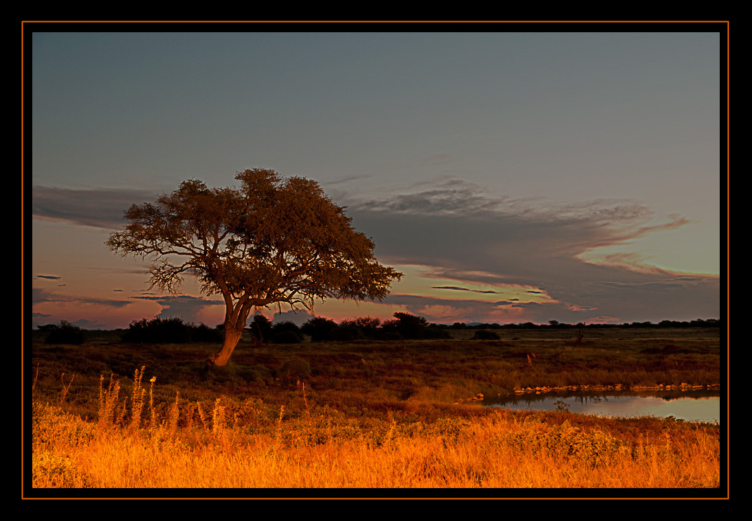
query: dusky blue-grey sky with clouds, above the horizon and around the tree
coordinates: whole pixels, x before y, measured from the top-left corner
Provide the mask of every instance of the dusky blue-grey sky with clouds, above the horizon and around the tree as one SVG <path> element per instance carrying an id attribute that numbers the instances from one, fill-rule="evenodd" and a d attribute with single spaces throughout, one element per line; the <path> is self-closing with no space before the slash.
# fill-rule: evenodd
<path id="1" fill-rule="evenodd" d="M 176 295 L 149 291 L 148 263 L 105 240 L 133 203 L 186 179 L 235 185 L 252 167 L 316 180 L 379 262 L 405 273 L 380 303 L 327 300 L 317 316 L 720 318 L 717 26 L 246 27 L 35 28 L 24 168 L 32 324 L 220 324 L 217 296 L 191 281 Z M 288 311 L 262 310 L 310 317 Z"/>

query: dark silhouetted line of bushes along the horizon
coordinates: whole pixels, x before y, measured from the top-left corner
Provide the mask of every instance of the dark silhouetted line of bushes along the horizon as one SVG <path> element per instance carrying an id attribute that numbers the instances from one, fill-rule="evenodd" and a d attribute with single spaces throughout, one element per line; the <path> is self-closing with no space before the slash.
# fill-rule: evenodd
<path id="1" fill-rule="evenodd" d="M 293 322 L 279 322 L 271 324 L 264 315 L 254 315 L 246 328 L 254 342 L 275 344 L 296 344 L 303 342 L 305 336 L 311 342 L 353 342 L 357 340 L 402 340 L 402 339 L 448 339 L 450 330 L 477 330 L 472 339 L 499 339 L 493 330 L 519 329 L 613 329 L 613 328 L 689 328 L 689 327 L 720 327 L 720 320 L 693 321 L 660 321 L 631 322 L 625 324 L 562 324 L 559 321 L 549 321 L 547 324 L 498 324 L 455 322 L 454 324 L 429 324 L 425 318 L 410 313 L 397 312 L 394 318 L 381 321 L 379 318 L 359 317 L 346 319 L 340 323 L 323 317 L 314 317 L 298 326 Z M 46 344 L 80 345 L 84 340 L 85 330 L 68 321 L 59 324 L 39 326 L 38 330 L 47 333 Z M 221 343 L 223 342 L 223 326 L 209 327 L 205 324 L 187 324 L 181 318 L 146 318 L 132 321 L 127 330 L 122 330 L 123 342 L 141 344 L 188 344 L 188 343 Z"/>

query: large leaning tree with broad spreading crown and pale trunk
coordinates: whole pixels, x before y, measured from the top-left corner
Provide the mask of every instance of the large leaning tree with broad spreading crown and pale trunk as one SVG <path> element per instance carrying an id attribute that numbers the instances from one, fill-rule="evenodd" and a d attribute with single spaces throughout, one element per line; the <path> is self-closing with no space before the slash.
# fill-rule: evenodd
<path id="1" fill-rule="evenodd" d="M 123 256 L 150 257 L 150 288 L 174 293 L 195 276 L 202 293 L 225 302 L 225 339 L 210 358 L 224 366 L 254 309 L 287 303 L 311 309 L 327 298 L 382 300 L 402 273 L 378 264 L 374 242 L 356 231 L 344 206 L 317 182 L 253 168 L 239 187 L 191 179 L 156 203 L 126 210 L 106 244 Z"/>

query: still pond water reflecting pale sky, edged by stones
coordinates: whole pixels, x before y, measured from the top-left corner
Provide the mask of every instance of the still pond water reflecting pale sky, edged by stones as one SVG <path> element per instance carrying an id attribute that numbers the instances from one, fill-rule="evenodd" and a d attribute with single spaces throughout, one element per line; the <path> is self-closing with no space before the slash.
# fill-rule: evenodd
<path id="1" fill-rule="evenodd" d="M 673 416 L 680 420 L 720 422 L 720 396 L 689 393 L 541 393 L 484 399 L 483 405 L 530 411 L 569 410 L 605 416 Z"/>

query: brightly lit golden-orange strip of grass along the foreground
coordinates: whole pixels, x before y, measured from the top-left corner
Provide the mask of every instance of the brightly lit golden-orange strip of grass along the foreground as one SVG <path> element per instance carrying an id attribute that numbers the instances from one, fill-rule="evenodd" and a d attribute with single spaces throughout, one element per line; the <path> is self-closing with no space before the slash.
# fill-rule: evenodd
<path id="1" fill-rule="evenodd" d="M 138 378 L 138 375 L 137 375 Z M 139 393 L 138 387 L 136 392 Z M 131 399 L 132 401 L 132 399 Z M 604 429 L 490 411 L 435 423 L 287 419 L 238 426 L 217 400 L 176 429 L 175 410 L 89 423 L 35 404 L 34 488 L 685 488 L 720 486 L 717 429 L 687 424 L 624 441 Z M 103 410 L 106 401 L 102 402 Z M 138 402 L 133 402 L 136 408 Z M 189 408 L 184 408 L 184 411 Z M 575 417 L 575 415 L 572 415 Z M 119 423 L 117 423 L 119 421 Z M 678 429 L 678 430 L 677 430 Z M 673 432 L 673 434 L 672 434 Z M 335 495 L 337 495 L 335 493 Z"/>

